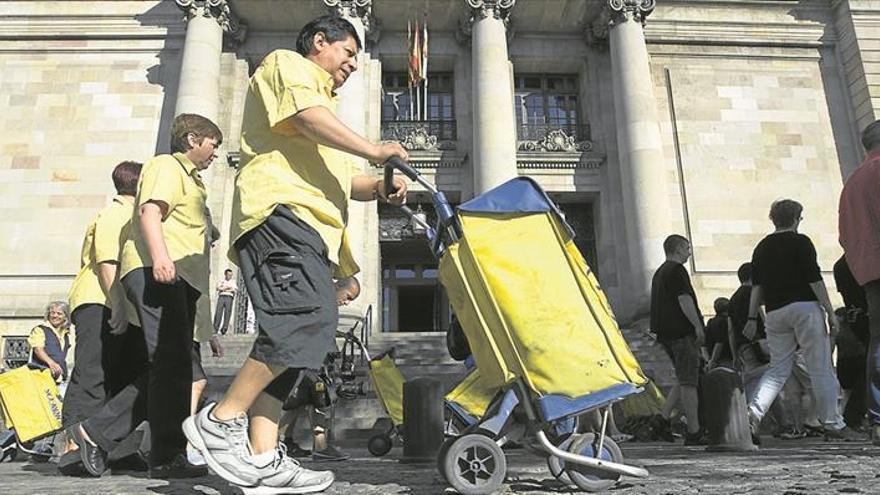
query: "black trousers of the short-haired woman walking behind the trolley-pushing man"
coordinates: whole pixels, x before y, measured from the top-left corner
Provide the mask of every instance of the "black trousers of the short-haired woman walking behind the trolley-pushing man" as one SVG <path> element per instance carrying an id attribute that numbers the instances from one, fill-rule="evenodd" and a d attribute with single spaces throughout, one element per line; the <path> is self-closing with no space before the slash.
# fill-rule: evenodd
<path id="1" fill-rule="evenodd" d="M 83 423 L 105 451 L 146 419 L 150 423 L 150 465 L 186 451 L 181 423 L 189 416 L 192 395 L 192 338 L 199 292 L 184 280 L 160 284 L 150 268 L 122 279 L 137 308 L 143 330 L 146 365 L 137 377 Z"/>

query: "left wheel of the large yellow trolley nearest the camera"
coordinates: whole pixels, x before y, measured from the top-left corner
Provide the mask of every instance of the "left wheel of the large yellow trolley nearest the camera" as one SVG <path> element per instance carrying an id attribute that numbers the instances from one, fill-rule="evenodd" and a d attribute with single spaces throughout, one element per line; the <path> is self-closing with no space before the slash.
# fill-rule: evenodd
<path id="1" fill-rule="evenodd" d="M 494 493 L 507 475 L 507 458 L 494 440 L 471 433 L 449 446 L 443 456 L 443 472 L 461 495 Z"/>

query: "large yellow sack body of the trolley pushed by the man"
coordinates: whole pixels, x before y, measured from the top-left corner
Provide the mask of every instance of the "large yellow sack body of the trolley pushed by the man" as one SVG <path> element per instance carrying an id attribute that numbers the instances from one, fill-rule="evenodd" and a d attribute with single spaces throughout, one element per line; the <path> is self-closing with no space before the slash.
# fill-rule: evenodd
<path id="1" fill-rule="evenodd" d="M 605 294 L 551 213 L 459 211 L 464 237 L 440 280 L 483 379 L 522 377 L 540 396 L 581 397 L 646 378 Z"/>

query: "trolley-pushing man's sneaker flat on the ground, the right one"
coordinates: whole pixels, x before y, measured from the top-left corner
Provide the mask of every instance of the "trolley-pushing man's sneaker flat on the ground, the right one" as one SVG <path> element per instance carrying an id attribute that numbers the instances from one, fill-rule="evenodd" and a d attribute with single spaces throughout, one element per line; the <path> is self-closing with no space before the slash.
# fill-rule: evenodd
<path id="1" fill-rule="evenodd" d="M 257 467 L 260 483 L 242 488 L 245 495 L 277 495 L 314 493 L 326 490 L 336 479 L 330 471 L 312 471 L 300 466 L 299 461 L 287 456 L 284 444 L 278 446 L 275 459 L 264 467 Z"/>

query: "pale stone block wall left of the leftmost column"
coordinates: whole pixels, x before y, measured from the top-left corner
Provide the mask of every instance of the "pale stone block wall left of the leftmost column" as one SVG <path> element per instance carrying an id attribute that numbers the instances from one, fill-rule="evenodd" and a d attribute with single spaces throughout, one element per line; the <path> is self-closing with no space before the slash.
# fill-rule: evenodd
<path id="1" fill-rule="evenodd" d="M 49 4 L 0 6 L 0 333 L 26 333 L 67 299 L 85 228 L 115 194 L 111 170 L 167 145 L 174 106 L 173 5 Z"/>

